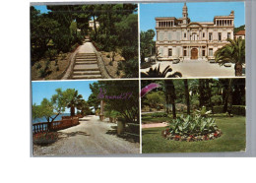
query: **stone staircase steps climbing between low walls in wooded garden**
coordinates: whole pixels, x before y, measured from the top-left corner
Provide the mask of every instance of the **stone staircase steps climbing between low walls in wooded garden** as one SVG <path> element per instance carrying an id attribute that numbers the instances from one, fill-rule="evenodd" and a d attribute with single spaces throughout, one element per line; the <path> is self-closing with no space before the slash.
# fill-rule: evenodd
<path id="1" fill-rule="evenodd" d="M 77 53 L 71 79 L 101 79 L 96 53 Z"/>

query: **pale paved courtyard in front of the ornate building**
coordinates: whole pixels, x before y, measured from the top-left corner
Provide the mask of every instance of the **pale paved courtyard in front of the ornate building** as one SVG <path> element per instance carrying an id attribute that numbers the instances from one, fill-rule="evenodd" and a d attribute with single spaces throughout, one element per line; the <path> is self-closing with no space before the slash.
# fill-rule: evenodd
<path id="1" fill-rule="evenodd" d="M 168 65 L 173 72 L 180 72 L 182 78 L 187 77 L 234 77 L 234 64 L 231 67 L 220 66 L 219 64 L 209 63 L 206 60 L 184 60 L 178 64 L 173 64 L 172 61 L 161 61 L 153 65 L 153 68 L 159 67 L 162 72 Z M 141 69 L 141 72 L 147 72 L 150 68 Z"/>

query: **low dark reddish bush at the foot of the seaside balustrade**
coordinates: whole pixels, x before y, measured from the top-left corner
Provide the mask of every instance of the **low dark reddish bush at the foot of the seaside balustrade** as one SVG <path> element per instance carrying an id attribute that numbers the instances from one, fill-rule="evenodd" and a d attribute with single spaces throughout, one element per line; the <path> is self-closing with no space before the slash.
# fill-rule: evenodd
<path id="1" fill-rule="evenodd" d="M 46 146 L 58 140 L 57 132 L 42 132 L 32 136 L 32 143 L 39 146 Z"/>

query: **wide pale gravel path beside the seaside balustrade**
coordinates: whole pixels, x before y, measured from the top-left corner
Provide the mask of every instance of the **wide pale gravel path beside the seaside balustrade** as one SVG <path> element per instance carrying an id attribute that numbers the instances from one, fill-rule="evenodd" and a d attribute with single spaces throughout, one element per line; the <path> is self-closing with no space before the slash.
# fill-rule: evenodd
<path id="1" fill-rule="evenodd" d="M 58 131 L 60 140 L 47 147 L 33 146 L 33 155 L 86 155 L 106 153 L 139 153 L 140 144 L 130 143 L 116 135 L 107 134 L 113 130 L 113 123 L 100 122 L 96 116 L 80 120 L 78 126 Z"/>

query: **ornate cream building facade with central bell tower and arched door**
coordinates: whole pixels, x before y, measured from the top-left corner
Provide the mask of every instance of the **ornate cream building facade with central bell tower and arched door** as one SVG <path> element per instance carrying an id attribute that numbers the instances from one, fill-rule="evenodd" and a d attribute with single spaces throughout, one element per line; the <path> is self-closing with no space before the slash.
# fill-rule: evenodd
<path id="1" fill-rule="evenodd" d="M 182 18 L 156 18 L 156 48 L 160 60 L 180 58 L 213 59 L 218 48 L 223 47 L 227 38 L 233 39 L 234 13 L 216 16 L 213 22 L 191 22 L 186 3 Z"/>

